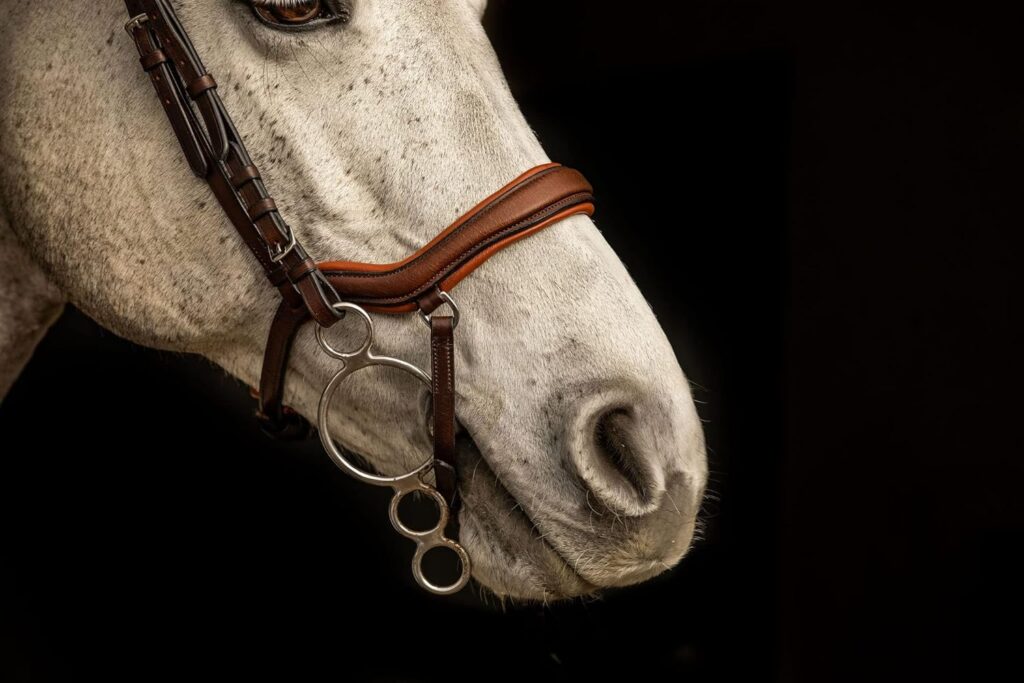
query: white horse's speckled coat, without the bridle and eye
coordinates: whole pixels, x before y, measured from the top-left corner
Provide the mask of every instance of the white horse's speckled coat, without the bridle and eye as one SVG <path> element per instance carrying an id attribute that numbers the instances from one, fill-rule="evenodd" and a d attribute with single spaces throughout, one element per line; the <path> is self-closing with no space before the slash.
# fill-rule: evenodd
<path id="1" fill-rule="evenodd" d="M 547 161 L 480 2 L 354 0 L 349 25 L 306 34 L 268 29 L 244 3 L 175 6 L 317 258 L 397 260 Z M 255 384 L 278 297 L 187 171 L 123 4 L 0 11 L 0 392 L 65 300 Z M 502 597 L 555 599 L 675 564 L 707 478 L 702 432 L 665 334 L 590 219 L 500 253 L 455 295 L 461 536 L 476 579 Z M 416 316 L 377 324 L 383 352 L 426 365 Z M 333 369 L 311 332 L 287 392 L 306 416 Z M 348 384 L 339 440 L 383 472 L 420 462 L 422 387 L 375 372 Z"/>

